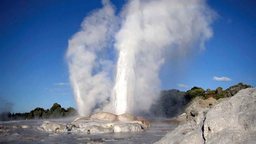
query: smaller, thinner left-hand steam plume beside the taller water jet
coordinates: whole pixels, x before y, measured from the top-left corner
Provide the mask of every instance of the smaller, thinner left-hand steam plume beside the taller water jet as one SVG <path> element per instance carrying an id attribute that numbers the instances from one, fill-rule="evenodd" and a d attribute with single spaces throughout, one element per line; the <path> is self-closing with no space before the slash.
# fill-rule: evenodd
<path id="1" fill-rule="evenodd" d="M 89 115 L 95 104 L 111 95 L 112 82 L 105 53 L 115 29 L 115 11 L 106 0 L 103 7 L 87 16 L 82 29 L 68 41 L 66 57 L 78 112 Z"/>

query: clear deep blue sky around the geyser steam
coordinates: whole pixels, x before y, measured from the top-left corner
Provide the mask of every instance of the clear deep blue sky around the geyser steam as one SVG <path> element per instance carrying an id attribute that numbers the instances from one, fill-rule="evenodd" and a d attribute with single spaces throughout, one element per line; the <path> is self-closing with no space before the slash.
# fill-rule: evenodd
<path id="1" fill-rule="evenodd" d="M 124 3 L 111 1 L 118 11 Z M 163 65 L 163 90 L 226 89 L 238 82 L 256 86 L 256 2 L 207 2 L 219 15 L 213 38 L 205 50 Z M 76 107 L 64 55 L 83 18 L 100 7 L 100 0 L 0 0 L 0 108 L 23 113 L 54 102 Z"/>

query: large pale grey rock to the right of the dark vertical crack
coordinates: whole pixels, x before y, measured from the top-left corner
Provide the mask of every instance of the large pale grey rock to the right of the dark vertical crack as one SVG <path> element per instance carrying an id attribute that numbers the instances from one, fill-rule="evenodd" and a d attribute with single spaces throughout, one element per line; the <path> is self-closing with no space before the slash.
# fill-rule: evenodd
<path id="1" fill-rule="evenodd" d="M 205 142 L 256 144 L 256 88 L 216 105 L 204 121 Z"/>

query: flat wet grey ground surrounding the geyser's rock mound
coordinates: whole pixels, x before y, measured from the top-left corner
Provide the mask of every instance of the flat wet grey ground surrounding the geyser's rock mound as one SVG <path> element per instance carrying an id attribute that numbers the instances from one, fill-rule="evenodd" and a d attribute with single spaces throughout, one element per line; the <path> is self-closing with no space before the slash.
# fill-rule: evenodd
<path id="1" fill-rule="evenodd" d="M 2 144 L 153 144 L 175 129 L 168 120 L 151 120 L 151 127 L 143 132 L 124 133 L 56 133 L 37 129 L 45 120 L 16 120 L 0 122 Z M 56 120 L 55 120 L 56 121 Z M 57 120 L 63 122 L 62 120 Z M 71 121 L 68 121 L 71 122 Z"/>

